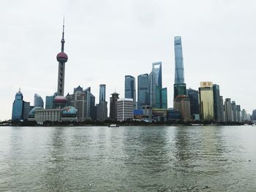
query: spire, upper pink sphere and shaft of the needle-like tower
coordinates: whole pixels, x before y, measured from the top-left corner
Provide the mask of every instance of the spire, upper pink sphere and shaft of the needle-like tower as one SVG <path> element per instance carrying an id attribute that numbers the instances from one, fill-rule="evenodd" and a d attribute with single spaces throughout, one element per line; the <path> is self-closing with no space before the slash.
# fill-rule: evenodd
<path id="1" fill-rule="evenodd" d="M 61 52 L 56 56 L 59 61 L 59 72 L 58 72 L 58 96 L 64 96 L 64 82 L 65 82 L 65 63 L 67 62 L 67 54 L 64 53 L 64 22 L 62 26 L 62 39 L 61 39 Z"/>

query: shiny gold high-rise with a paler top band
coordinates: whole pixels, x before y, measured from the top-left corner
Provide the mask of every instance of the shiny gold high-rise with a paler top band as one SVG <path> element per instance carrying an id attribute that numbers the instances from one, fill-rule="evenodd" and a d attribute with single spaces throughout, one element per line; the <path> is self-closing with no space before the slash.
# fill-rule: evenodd
<path id="1" fill-rule="evenodd" d="M 212 82 L 200 82 L 200 119 L 214 120 L 214 93 Z"/>

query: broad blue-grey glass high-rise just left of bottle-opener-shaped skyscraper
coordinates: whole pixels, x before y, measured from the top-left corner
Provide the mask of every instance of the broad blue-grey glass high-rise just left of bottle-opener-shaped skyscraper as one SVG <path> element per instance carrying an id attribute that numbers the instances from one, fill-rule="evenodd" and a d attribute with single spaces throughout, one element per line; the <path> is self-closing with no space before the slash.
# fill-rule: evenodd
<path id="1" fill-rule="evenodd" d="M 138 110 L 142 110 L 144 105 L 149 105 L 149 85 L 148 74 L 138 76 Z"/>

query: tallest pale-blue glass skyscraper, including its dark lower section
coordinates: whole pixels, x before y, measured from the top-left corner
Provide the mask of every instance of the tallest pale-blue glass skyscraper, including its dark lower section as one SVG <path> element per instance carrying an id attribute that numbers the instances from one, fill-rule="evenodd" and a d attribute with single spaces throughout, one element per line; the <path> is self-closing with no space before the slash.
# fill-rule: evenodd
<path id="1" fill-rule="evenodd" d="M 174 52 L 175 52 L 175 80 L 173 99 L 179 95 L 186 95 L 186 84 L 184 81 L 184 64 L 181 45 L 181 37 L 174 37 Z"/>

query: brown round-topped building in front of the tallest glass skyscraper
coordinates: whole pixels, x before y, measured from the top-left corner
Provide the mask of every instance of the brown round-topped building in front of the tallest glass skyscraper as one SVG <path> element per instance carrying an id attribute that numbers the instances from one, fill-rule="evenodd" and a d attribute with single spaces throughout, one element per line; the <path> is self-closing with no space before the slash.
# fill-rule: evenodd
<path id="1" fill-rule="evenodd" d="M 174 99 L 174 109 L 181 112 L 181 120 L 189 121 L 191 120 L 190 115 L 190 99 L 188 96 L 176 96 Z"/>

